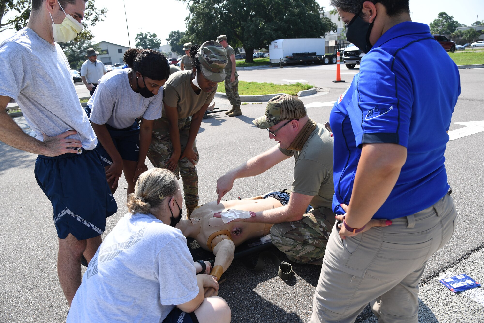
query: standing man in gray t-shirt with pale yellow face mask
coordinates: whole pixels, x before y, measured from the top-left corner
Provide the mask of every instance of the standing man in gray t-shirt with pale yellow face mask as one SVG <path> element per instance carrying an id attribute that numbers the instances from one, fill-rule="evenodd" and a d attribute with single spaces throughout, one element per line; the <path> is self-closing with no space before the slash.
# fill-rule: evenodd
<path id="1" fill-rule="evenodd" d="M 96 135 L 80 105 L 69 62 L 57 44 L 74 39 L 82 30 L 85 5 L 82 0 L 59 0 L 53 7 L 33 2 L 27 27 L 0 44 L 0 140 L 39 154 L 35 178 L 54 209 L 59 282 L 69 305 L 81 283 L 81 258 L 91 260 L 101 244 L 106 217 L 117 210 L 104 167 L 93 150 Z M 7 104 L 15 101 L 34 137 L 5 113 Z"/>

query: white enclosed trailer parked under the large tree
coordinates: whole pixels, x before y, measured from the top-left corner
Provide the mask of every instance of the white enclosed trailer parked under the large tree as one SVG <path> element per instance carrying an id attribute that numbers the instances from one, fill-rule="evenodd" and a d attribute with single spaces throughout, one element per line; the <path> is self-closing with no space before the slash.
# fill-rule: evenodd
<path id="1" fill-rule="evenodd" d="M 269 57 L 271 63 L 279 63 L 281 58 L 288 58 L 283 60 L 289 62 L 298 57 L 298 60 L 304 61 L 303 57 L 313 57 L 309 61 L 314 60 L 316 56 L 324 56 L 324 38 L 283 38 L 271 42 L 269 45 Z M 297 55 L 294 55 L 297 54 Z M 291 58 L 293 58 L 291 60 Z"/>

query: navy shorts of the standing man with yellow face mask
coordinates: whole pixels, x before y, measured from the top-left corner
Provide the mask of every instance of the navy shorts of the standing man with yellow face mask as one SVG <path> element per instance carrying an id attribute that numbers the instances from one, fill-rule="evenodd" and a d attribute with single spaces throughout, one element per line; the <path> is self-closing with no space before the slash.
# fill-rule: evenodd
<path id="1" fill-rule="evenodd" d="M 118 210 L 94 149 L 56 157 L 39 155 L 35 179 L 52 203 L 60 239 L 69 233 L 77 240 L 97 237 L 106 228 L 106 218 Z"/>

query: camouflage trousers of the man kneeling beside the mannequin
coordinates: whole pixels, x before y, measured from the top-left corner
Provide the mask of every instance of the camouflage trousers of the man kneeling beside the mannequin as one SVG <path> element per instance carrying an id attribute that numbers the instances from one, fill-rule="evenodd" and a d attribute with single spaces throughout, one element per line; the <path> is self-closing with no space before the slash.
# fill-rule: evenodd
<path id="1" fill-rule="evenodd" d="M 313 209 L 305 213 L 299 221 L 273 225 L 271 240 L 288 258 L 322 265 L 326 244 L 335 221 L 333 210 Z"/>

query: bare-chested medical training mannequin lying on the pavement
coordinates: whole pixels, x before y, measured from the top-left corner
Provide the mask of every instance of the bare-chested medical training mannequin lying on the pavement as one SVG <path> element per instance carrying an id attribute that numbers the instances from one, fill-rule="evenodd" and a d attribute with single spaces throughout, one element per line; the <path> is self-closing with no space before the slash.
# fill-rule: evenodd
<path id="1" fill-rule="evenodd" d="M 215 263 L 210 275 L 217 277 L 227 270 L 234 258 L 235 247 L 249 239 L 263 237 L 269 234 L 272 224 L 229 222 L 213 217 L 213 213 L 227 210 L 244 210 L 259 212 L 283 206 L 274 197 L 253 199 L 216 201 L 206 203 L 195 209 L 188 220 L 181 220 L 175 227 L 180 229 L 185 237 L 195 239 L 205 250 L 213 252 Z"/>

